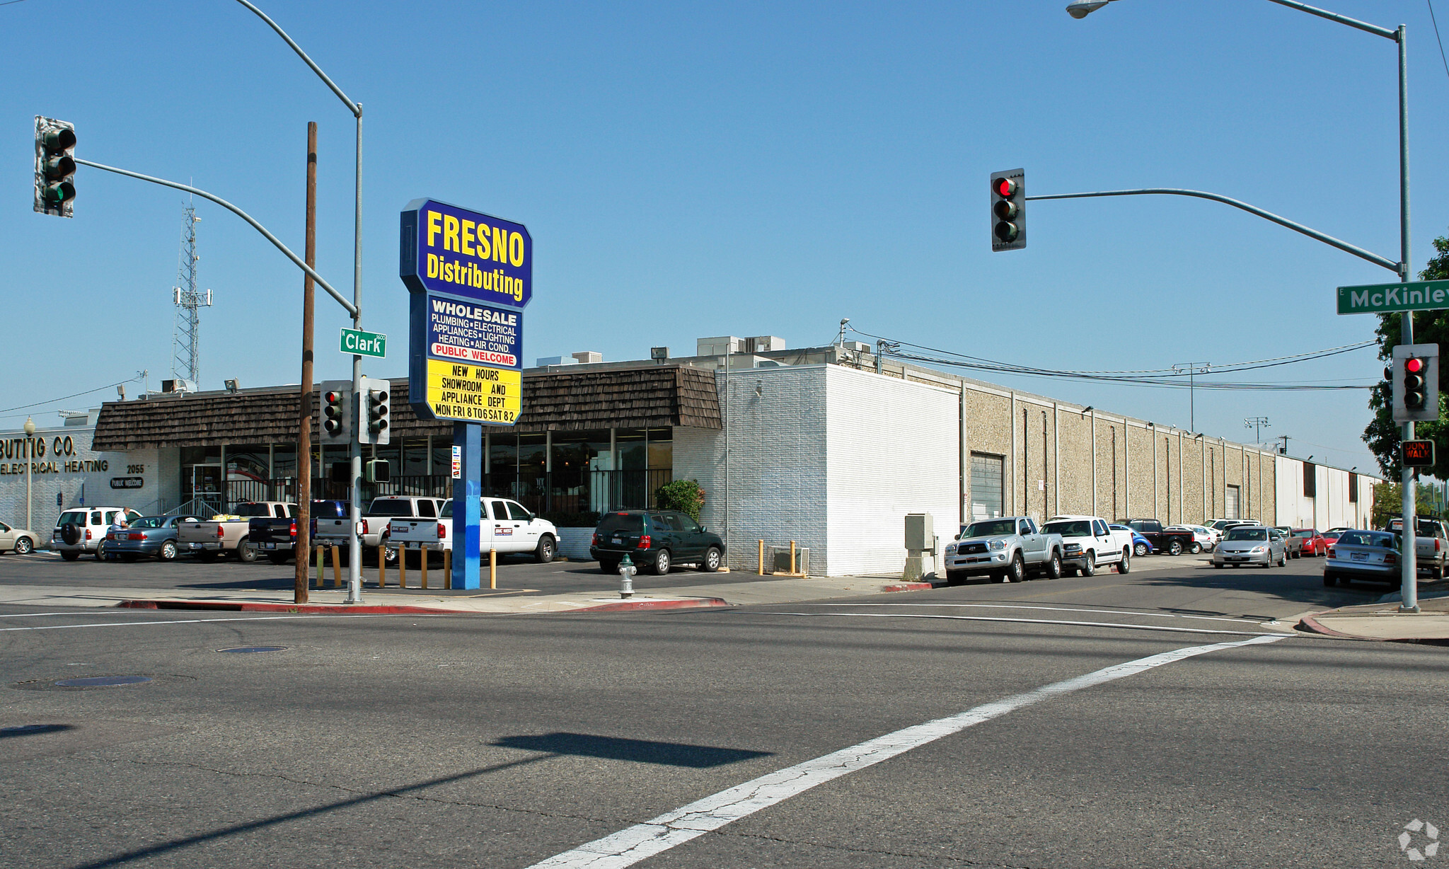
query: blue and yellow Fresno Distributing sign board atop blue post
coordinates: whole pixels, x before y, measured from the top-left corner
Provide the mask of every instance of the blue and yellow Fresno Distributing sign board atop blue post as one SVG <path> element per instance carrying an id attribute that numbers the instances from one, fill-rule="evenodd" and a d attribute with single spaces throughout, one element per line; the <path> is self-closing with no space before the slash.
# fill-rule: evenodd
<path id="1" fill-rule="evenodd" d="M 522 413 L 533 240 L 519 223 L 433 200 L 401 219 L 412 293 L 409 401 L 423 419 L 511 426 Z"/>

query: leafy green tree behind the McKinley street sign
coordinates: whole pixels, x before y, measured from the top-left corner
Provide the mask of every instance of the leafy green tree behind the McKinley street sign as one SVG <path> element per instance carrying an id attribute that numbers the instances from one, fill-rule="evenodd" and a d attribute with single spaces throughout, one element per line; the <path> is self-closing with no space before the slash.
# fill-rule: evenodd
<path id="1" fill-rule="evenodd" d="M 1419 272 L 1420 281 L 1449 280 L 1449 238 L 1435 239 L 1437 253 Z M 1403 335 L 1403 314 L 1379 314 L 1378 329 L 1378 358 L 1390 365 L 1394 358 L 1394 345 L 1400 343 Z M 1449 345 L 1449 310 L 1414 311 L 1414 343 Z M 1423 472 L 1439 479 L 1449 478 L 1449 423 L 1443 420 L 1445 392 L 1449 385 L 1449 366 L 1439 366 L 1439 408 L 1440 420 L 1436 423 L 1417 423 L 1416 437 L 1427 437 L 1435 442 L 1436 463 L 1424 468 Z M 1387 379 L 1378 382 L 1369 394 L 1368 407 L 1374 411 L 1374 421 L 1364 429 L 1364 443 L 1378 458 L 1378 466 L 1387 479 L 1398 479 L 1401 468 L 1398 465 L 1398 445 L 1403 442 L 1403 429 L 1394 421 L 1394 392 L 1392 384 Z"/>

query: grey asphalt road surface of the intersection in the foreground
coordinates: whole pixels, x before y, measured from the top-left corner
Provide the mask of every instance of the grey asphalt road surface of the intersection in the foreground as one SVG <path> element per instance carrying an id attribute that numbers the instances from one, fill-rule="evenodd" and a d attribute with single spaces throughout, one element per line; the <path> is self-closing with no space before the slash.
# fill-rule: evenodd
<path id="1" fill-rule="evenodd" d="M 1317 568 L 611 616 L 9 607 L 0 862 L 1408 865 L 1404 824 L 1449 828 L 1449 658 L 1264 626 L 1382 591 Z M 55 684 L 107 675 L 151 681 Z M 697 837 L 636 827 L 701 799 Z"/>

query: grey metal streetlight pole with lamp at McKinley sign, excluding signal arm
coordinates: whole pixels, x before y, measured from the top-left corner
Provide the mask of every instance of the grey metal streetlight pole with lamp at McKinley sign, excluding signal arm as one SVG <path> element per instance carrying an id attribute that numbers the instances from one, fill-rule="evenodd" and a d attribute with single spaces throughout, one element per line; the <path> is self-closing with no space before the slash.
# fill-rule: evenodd
<path id="1" fill-rule="evenodd" d="M 1066 4 L 1066 13 L 1075 19 L 1087 17 L 1093 12 L 1097 12 L 1107 3 L 1113 0 L 1074 0 Z M 1316 6 L 1308 6 L 1307 3 L 1298 3 L 1297 0 L 1268 0 L 1269 3 L 1277 3 L 1278 6 L 1287 6 L 1288 9 L 1297 9 L 1298 12 L 1306 12 L 1308 14 L 1316 14 L 1321 19 L 1330 22 L 1337 22 L 1340 25 L 1364 30 L 1365 33 L 1372 33 L 1375 36 L 1382 36 L 1384 39 L 1392 39 L 1398 43 L 1398 281 L 1401 284 L 1408 282 L 1408 29 L 1404 25 L 1398 25 L 1395 29 L 1379 28 L 1378 25 L 1371 25 L 1368 22 L 1361 22 L 1358 19 L 1350 19 L 1345 14 L 1336 12 L 1329 12 L 1326 9 L 1319 9 Z M 1165 191 L 1164 191 L 1165 193 Z M 1100 196 L 1100 194 L 1097 194 Z M 1211 197 L 1208 197 L 1211 198 Z M 1281 220 L 1279 220 L 1281 222 Z M 1300 230 L 1301 232 L 1301 230 Z M 1326 239 L 1320 239 L 1326 240 Z M 1332 243 L 1332 242 L 1330 242 Z M 1336 245 L 1343 248 L 1342 245 Z M 1348 248 L 1343 248 L 1348 249 Z M 1356 251 L 1349 251 L 1350 253 L 1358 253 Z M 1362 256 L 1362 253 L 1358 253 Z M 1365 259 L 1369 259 L 1365 256 Z M 1372 261 L 1372 259 L 1371 259 Z M 1385 265 L 1379 262 L 1379 265 Z M 1414 314 L 1413 311 L 1404 311 L 1400 320 L 1400 343 L 1414 343 Z M 1403 439 L 1414 439 L 1414 423 L 1404 423 Z M 1410 468 L 1403 468 L 1400 472 L 1400 482 L 1403 485 L 1403 514 L 1404 514 L 1404 529 L 1403 539 L 1407 542 L 1400 546 L 1401 565 L 1400 574 L 1400 588 L 1401 600 L 1398 610 L 1401 613 L 1417 613 L 1419 611 L 1419 565 L 1416 562 L 1414 552 L 1414 537 L 1419 532 L 1419 523 L 1414 517 L 1414 475 Z"/>

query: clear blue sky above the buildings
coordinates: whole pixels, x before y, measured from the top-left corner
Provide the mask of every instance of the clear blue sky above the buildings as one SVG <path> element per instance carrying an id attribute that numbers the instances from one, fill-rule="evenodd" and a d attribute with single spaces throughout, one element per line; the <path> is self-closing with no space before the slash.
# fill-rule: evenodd
<path id="1" fill-rule="evenodd" d="M 1437 7 L 1449 16 L 1449 3 Z M 991 253 L 987 177 L 1029 193 L 1190 187 L 1398 253 L 1395 46 L 1265 0 L 265 3 L 365 106 L 368 374 L 406 374 L 397 214 L 430 196 L 527 224 L 525 356 L 693 353 L 713 335 L 864 332 L 1053 369 L 1227 364 L 1372 336 L 1333 288 L 1391 272 L 1213 203 L 1032 203 Z M 1449 227 L 1449 75 L 1420 1 L 1332 7 L 1410 32 L 1414 269 Z M 57 28 L 57 22 L 68 26 Z M 1443 22 L 1449 23 L 1449 20 Z M 55 51 L 70 41 L 70 51 Z M 320 125 L 317 268 L 351 288 L 352 120 L 229 0 L 0 6 L 0 408 L 170 377 L 183 196 L 83 168 L 77 217 L 30 211 L 32 119 L 78 155 L 193 180 L 301 249 Z M 200 203 L 201 387 L 300 377 L 301 277 Z M 346 377 L 319 291 L 317 378 Z M 1369 382 L 1372 350 L 1256 379 Z M 984 377 L 1158 423 L 1172 390 Z M 130 387 L 135 394 L 136 387 Z M 48 404 L 80 408 L 113 391 Z M 1364 392 L 1197 392 L 1197 427 L 1372 469 Z M 23 421 L 0 413 L 0 426 Z"/>

